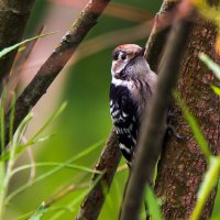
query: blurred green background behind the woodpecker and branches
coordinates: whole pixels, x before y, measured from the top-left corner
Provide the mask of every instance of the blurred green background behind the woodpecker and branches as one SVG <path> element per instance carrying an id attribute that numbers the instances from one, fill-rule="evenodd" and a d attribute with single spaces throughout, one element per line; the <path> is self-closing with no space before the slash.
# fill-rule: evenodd
<path id="1" fill-rule="evenodd" d="M 116 0 L 113 2 L 145 10 L 146 14 L 154 14 L 158 11 L 162 0 Z M 45 0 L 36 1 L 26 29 L 26 37 L 33 36 L 36 32 L 36 28 L 44 24 L 44 19 L 46 19 L 52 3 L 52 1 Z M 86 40 L 135 25 L 138 25 L 138 23 L 134 21 L 103 14 L 99 19 L 99 23 L 92 29 Z M 136 42 L 134 40 L 133 42 L 124 43 L 138 43 L 144 46 L 146 38 L 143 41 Z M 97 45 L 98 44 L 99 42 L 97 42 Z M 65 163 L 69 158 L 78 155 L 80 152 L 94 146 L 92 144 L 107 140 L 112 128 L 109 113 L 109 86 L 111 80 L 111 52 L 116 46 L 117 45 L 110 45 L 108 50 L 92 54 L 67 69 L 67 78 L 59 91 L 62 98 L 56 101 L 57 106 L 61 106 L 64 100 L 67 101 L 68 105 L 56 120 L 54 127 L 45 132 L 45 135 L 52 133 L 55 133 L 55 135 L 33 147 L 36 163 Z M 56 97 L 51 97 L 51 99 L 56 99 Z M 50 103 L 42 105 L 47 106 Z M 102 147 L 103 144 L 98 144 L 89 154 L 77 160 L 76 164 L 91 168 L 99 157 Z M 20 163 L 26 164 L 29 163 L 28 160 L 29 158 L 22 157 Z M 123 164 L 124 161 L 122 160 L 121 165 Z M 36 176 L 43 175 L 48 170 L 51 170 L 50 166 L 46 168 L 40 166 L 36 168 Z M 29 178 L 29 170 L 24 170 L 19 173 L 19 175 L 15 175 L 11 180 L 10 191 L 25 184 Z M 88 184 L 90 176 L 91 174 L 81 170 L 79 172 L 78 169 L 62 168 L 62 170 L 55 173 L 53 176 L 48 176 L 44 180 L 38 182 L 16 195 L 9 204 L 6 218 L 18 219 L 20 216 L 22 217 L 30 211 L 36 210 L 37 207 L 40 208 L 35 212 L 35 217 L 37 217 L 37 215 L 42 216 L 44 212 L 44 208 L 41 206 L 42 201 L 47 201 L 48 198 L 52 198 L 57 188 L 62 187 L 65 189 L 68 188 L 69 185 L 77 186 L 81 183 Z M 99 219 L 117 219 L 127 176 L 127 170 L 120 172 L 116 175 L 110 194 L 107 195 L 107 200 Z M 53 206 L 63 211 L 61 212 L 62 216 L 54 216 L 52 209 L 50 212 L 44 213 L 42 219 L 73 219 L 73 216 L 76 216 L 77 213 L 82 191 L 85 191 L 84 187 L 69 194 Z M 73 206 L 75 209 L 73 209 Z M 220 194 L 217 196 L 213 217 L 220 216 L 218 209 L 219 206 Z M 70 210 L 68 208 L 70 208 Z"/>

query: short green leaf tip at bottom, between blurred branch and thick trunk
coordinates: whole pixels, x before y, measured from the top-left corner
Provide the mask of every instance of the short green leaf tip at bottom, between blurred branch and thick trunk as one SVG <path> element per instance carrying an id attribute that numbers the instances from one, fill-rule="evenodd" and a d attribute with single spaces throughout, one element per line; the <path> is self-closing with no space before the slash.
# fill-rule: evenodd
<path id="1" fill-rule="evenodd" d="M 150 186 L 146 186 L 146 204 L 152 220 L 162 220 L 160 202 Z"/>

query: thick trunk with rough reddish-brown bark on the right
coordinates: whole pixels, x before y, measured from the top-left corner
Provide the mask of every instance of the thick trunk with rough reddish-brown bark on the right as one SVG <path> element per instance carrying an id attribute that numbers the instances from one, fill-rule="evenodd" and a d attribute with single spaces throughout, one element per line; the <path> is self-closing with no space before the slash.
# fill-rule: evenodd
<path id="1" fill-rule="evenodd" d="M 216 35 L 216 29 L 210 22 L 197 18 L 182 61 L 178 80 L 178 91 L 197 118 L 215 154 L 220 152 L 220 99 L 210 88 L 216 80 L 215 76 L 199 61 L 198 55 L 204 52 L 219 63 L 213 50 Z M 206 160 L 177 106 L 174 106 L 174 124 L 184 139 L 170 139 L 162 154 L 156 180 L 156 194 L 165 197 L 163 212 L 168 220 L 189 219 L 207 168 Z M 209 219 L 215 196 L 216 190 L 209 197 L 200 219 Z"/>

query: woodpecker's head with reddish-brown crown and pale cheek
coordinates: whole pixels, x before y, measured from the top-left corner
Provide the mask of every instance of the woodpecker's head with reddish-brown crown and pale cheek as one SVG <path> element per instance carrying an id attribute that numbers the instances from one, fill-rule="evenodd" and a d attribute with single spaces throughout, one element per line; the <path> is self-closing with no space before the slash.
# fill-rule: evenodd
<path id="1" fill-rule="evenodd" d="M 116 79 L 131 80 L 150 69 L 144 58 L 145 48 L 136 44 L 123 44 L 112 53 L 111 74 Z"/>

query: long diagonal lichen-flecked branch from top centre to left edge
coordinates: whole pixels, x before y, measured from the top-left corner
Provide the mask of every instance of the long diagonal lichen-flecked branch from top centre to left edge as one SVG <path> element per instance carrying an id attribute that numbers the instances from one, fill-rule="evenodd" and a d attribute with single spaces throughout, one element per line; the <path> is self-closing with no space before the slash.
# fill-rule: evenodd
<path id="1" fill-rule="evenodd" d="M 42 65 L 35 77 L 23 90 L 15 103 L 14 130 L 25 118 L 29 111 L 36 105 L 56 76 L 64 68 L 86 34 L 97 23 L 98 18 L 110 0 L 92 0 L 85 7 L 70 30 L 62 38 L 47 61 Z M 9 143 L 9 119 L 6 116 L 6 143 Z"/>

